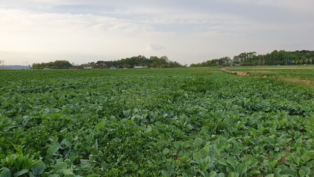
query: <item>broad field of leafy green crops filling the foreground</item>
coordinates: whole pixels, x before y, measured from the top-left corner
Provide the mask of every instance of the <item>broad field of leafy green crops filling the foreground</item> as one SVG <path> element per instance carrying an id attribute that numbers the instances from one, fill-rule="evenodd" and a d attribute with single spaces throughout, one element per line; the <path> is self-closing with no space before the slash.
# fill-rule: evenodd
<path id="1" fill-rule="evenodd" d="M 313 89 L 280 78 L 0 71 L 0 177 L 313 177 L 313 140 Z"/>

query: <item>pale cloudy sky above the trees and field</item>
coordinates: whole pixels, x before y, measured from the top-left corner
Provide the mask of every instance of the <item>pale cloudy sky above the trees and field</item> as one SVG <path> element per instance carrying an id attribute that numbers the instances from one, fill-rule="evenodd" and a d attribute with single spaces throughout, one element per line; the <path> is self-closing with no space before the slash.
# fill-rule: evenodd
<path id="1" fill-rule="evenodd" d="M 181 64 L 314 50 L 314 0 L 0 0 L 0 60 Z"/>

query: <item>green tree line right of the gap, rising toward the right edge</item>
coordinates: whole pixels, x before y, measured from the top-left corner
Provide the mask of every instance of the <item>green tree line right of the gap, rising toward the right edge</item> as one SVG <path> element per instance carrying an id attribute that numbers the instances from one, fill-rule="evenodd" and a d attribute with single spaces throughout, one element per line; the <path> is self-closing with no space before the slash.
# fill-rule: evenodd
<path id="1" fill-rule="evenodd" d="M 240 64 L 246 65 L 294 65 L 294 64 L 314 64 L 314 51 L 302 50 L 288 52 L 285 50 L 274 50 L 265 55 L 257 55 L 256 52 L 244 52 L 233 59 L 223 57 L 220 59 L 211 59 L 202 63 L 193 63 L 191 67 L 208 67 L 208 66 L 230 66 Z"/>

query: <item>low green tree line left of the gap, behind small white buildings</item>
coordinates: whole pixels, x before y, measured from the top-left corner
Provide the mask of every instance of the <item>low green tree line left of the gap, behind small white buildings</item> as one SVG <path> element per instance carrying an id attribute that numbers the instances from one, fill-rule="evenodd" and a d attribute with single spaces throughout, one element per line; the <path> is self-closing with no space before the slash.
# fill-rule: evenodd
<path id="1" fill-rule="evenodd" d="M 134 66 L 147 66 L 154 68 L 167 68 L 167 67 L 183 67 L 177 61 L 171 61 L 167 56 L 156 57 L 151 56 L 150 58 L 146 58 L 145 56 L 137 56 L 126 59 L 118 59 L 111 61 L 103 61 L 99 60 L 97 62 L 88 62 L 80 65 L 75 65 L 74 63 L 70 63 L 67 60 L 56 60 L 48 63 L 33 63 L 33 69 L 69 69 L 71 67 L 75 67 L 78 69 L 82 69 L 84 67 L 93 67 L 95 69 L 105 69 L 110 67 L 120 67 L 120 68 L 133 68 Z"/>

